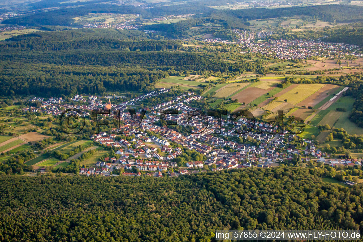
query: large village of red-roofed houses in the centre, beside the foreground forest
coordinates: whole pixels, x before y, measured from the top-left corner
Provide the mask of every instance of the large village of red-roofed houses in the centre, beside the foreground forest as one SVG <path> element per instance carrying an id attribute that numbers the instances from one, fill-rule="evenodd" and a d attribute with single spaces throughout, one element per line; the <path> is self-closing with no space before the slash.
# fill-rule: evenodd
<path id="1" fill-rule="evenodd" d="M 55 116 L 61 115 L 63 112 L 61 110 L 64 108 L 81 110 L 83 115 L 89 115 L 91 110 L 119 111 L 119 117 L 117 118 L 125 125 L 120 128 L 113 128 L 111 134 L 99 132 L 91 135 L 89 139 L 105 147 L 116 147 L 116 153 L 120 157 L 118 159 L 106 157 L 105 160 L 98 161 L 94 167 L 81 168 L 80 174 L 87 176 L 96 174 L 111 176 L 112 170 L 123 168 L 125 172 L 122 175 L 125 176 L 140 176 L 142 175 L 141 172 L 143 172 L 144 175 L 148 176 L 162 177 L 168 175 L 176 177 L 205 172 L 205 166 L 209 167 L 211 171 L 278 166 L 282 161 L 289 162 L 296 159 L 297 155 L 304 156 L 304 162 L 322 162 L 329 164 L 331 167 L 362 165 L 362 160 L 330 159 L 329 154 L 323 153 L 315 147 L 313 140 L 300 139 L 297 135 L 290 134 L 287 131 L 276 134 L 277 126 L 270 125 L 267 122 L 254 123 L 244 116 L 241 116 L 238 120 L 236 115 L 229 115 L 227 119 L 221 120 L 209 116 L 208 126 L 205 127 L 205 123 L 201 122 L 196 116 L 190 118 L 190 113 L 195 112 L 197 108 L 188 104 L 193 100 L 202 99 L 201 96 L 196 95 L 194 92 L 184 93 L 172 101 L 154 107 L 136 110 L 135 114 L 130 114 L 128 111 L 127 106 L 135 105 L 136 102 L 140 102 L 145 98 L 154 97 L 168 91 L 170 90 L 161 88 L 119 104 L 111 104 L 110 101 L 103 103 L 99 98 L 92 95 L 87 98 L 76 95 L 72 99 L 73 101 L 82 100 L 87 103 L 82 105 L 66 104 L 62 98 L 33 98 L 32 101 L 41 101 L 42 106 L 39 108 L 24 108 L 23 111 L 42 112 Z M 178 114 L 163 113 L 164 110 L 178 110 Z M 108 116 L 108 114 L 104 115 Z M 115 112 L 110 112 L 109 116 L 115 118 L 114 115 L 116 115 Z M 192 127 L 192 132 L 178 132 L 172 128 L 173 126 L 158 126 L 156 122 L 162 116 L 166 121 L 176 122 L 178 126 Z M 253 131 L 244 134 L 235 132 L 235 130 L 242 130 L 242 127 L 258 129 L 262 132 L 258 132 L 258 134 Z M 132 138 L 131 141 L 117 139 L 121 132 L 125 136 L 134 135 L 135 138 Z M 150 132 L 155 135 L 150 135 Z M 246 142 L 227 141 L 226 137 L 241 137 Z M 251 144 L 253 141 L 255 145 Z M 291 141 L 301 143 L 300 148 L 297 145 L 291 145 Z M 182 149 L 172 144 L 179 144 L 183 148 L 199 152 L 206 159 L 190 161 L 185 163 L 185 166 L 178 167 L 173 160 L 181 155 Z M 160 155 L 160 153 L 166 155 Z M 138 172 L 132 172 L 133 167 Z"/>

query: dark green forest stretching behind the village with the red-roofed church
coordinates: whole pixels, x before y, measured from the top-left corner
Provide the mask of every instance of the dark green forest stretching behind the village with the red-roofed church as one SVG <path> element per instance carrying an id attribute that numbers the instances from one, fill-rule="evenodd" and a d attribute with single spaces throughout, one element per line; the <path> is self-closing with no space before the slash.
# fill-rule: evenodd
<path id="1" fill-rule="evenodd" d="M 224 51 L 194 51 L 143 34 L 77 29 L 12 37 L 0 44 L 0 88 L 10 96 L 147 92 L 159 79 L 189 71 L 216 76 L 265 71 L 262 60 L 230 63 Z"/>

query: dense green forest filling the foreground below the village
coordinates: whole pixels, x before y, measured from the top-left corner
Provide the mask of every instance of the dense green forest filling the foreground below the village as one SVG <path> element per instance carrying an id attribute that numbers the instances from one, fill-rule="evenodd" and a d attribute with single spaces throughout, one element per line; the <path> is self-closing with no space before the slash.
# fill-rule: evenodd
<path id="1" fill-rule="evenodd" d="M 0 241 L 210 241 L 216 229 L 362 229 L 362 185 L 315 168 L 0 177 Z"/>

